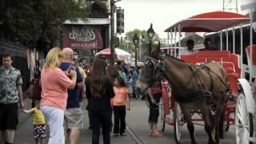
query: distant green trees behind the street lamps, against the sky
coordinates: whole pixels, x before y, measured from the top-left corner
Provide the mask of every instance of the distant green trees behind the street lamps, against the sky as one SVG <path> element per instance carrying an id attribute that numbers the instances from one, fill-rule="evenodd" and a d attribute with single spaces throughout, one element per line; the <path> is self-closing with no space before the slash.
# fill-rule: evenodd
<path id="1" fill-rule="evenodd" d="M 123 41 L 121 42 L 120 44 L 120 48 L 121 49 L 134 49 L 134 42 L 133 42 L 133 38 L 134 38 L 134 35 L 135 34 L 138 34 L 139 35 L 139 38 L 140 38 L 140 42 L 142 45 L 145 45 L 145 44 L 149 44 L 150 43 L 150 40 L 147 36 L 147 33 L 146 33 L 146 30 L 138 30 L 138 29 L 134 29 L 132 31 L 129 31 L 126 33 L 126 36 L 125 38 L 123 38 Z M 128 38 L 128 37 L 129 38 Z M 154 41 L 158 41 L 160 38 L 158 36 L 158 34 L 154 34 L 154 39 L 153 39 L 153 42 Z"/>

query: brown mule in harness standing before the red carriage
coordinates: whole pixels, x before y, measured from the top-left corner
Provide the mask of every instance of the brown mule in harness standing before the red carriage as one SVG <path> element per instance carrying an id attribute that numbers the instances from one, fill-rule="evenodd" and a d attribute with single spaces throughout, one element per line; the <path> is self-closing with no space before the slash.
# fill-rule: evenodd
<path id="1" fill-rule="evenodd" d="M 141 94 L 146 94 L 155 81 L 166 78 L 187 122 L 191 143 L 197 143 L 190 114 L 192 109 L 200 110 L 202 114 L 209 136 L 208 144 L 218 143 L 219 138 L 223 137 L 223 111 L 229 91 L 226 71 L 216 62 L 197 66 L 170 55 L 161 57 L 159 53 L 160 43 L 146 58 L 137 89 Z"/>

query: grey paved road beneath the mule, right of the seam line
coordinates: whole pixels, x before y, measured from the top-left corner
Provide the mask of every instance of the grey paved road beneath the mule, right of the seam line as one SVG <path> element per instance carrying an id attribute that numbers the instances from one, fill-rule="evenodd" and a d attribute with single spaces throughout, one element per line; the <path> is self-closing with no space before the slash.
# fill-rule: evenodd
<path id="1" fill-rule="evenodd" d="M 131 111 L 127 115 L 127 126 L 134 131 L 134 134 L 145 144 L 171 144 L 174 141 L 174 127 L 166 125 L 166 130 L 163 133 L 162 138 L 153 138 L 148 136 L 149 128 L 147 124 L 149 109 L 146 106 L 146 102 L 134 101 L 131 105 Z M 160 122 L 158 122 L 160 126 Z M 196 138 L 198 144 L 206 144 L 208 137 L 203 126 L 195 126 Z M 181 144 L 190 144 L 190 135 L 186 126 L 182 128 L 182 142 Z M 228 132 L 225 132 L 225 138 L 221 140 L 220 144 L 235 144 L 234 126 L 230 127 Z"/>

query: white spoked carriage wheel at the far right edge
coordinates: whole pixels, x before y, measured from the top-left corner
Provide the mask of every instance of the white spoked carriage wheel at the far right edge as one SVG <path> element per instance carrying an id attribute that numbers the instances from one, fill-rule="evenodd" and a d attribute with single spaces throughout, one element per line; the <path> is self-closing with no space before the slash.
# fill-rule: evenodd
<path id="1" fill-rule="evenodd" d="M 252 144 L 248 138 L 254 134 L 253 115 L 250 114 L 246 106 L 246 96 L 241 93 L 238 95 L 235 108 L 235 136 L 237 144 Z"/>

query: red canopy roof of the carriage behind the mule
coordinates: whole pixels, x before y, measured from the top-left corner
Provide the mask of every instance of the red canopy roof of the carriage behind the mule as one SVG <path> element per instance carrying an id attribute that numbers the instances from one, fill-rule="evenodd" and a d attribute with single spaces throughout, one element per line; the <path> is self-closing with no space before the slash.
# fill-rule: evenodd
<path id="1" fill-rule="evenodd" d="M 174 31 L 174 27 L 178 31 L 178 25 L 181 26 L 181 32 L 217 32 L 249 20 L 246 15 L 214 11 L 186 18 L 170 26 L 165 32 Z"/>

